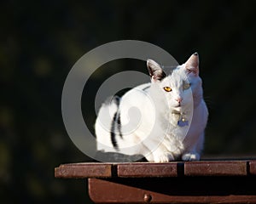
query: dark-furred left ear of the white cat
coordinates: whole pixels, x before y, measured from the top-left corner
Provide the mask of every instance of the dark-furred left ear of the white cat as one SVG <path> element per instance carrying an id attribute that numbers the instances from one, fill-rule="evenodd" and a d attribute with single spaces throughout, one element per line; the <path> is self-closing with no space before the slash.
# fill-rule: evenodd
<path id="1" fill-rule="evenodd" d="M 166 77 L 165 71 L 162 70 L 160 65 L 152 59 L 147 60 L 148 72 L 152 82 L 161 81 Z"/>

